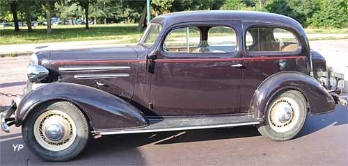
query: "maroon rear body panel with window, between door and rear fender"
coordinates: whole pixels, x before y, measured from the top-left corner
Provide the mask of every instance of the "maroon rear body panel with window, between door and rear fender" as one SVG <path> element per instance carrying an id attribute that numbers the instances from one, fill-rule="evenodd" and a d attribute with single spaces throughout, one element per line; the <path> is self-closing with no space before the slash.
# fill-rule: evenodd
<path id="1" fill-rule="evenodd" d="M 293 28 L 260 22 L 244 22 L 243 27 L 246 36 L 241 112 L 248 113 L 265 79 L 283 71 L 306 73 L 308 68 L 303 56 L 306 53 L 301 53 L 300 35 Z"/>

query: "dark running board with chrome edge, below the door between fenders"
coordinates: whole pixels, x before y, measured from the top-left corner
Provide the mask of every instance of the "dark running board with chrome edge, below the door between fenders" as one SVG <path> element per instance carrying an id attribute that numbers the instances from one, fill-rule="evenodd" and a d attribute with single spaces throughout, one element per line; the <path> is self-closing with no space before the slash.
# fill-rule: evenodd
<path id="1" fill-rule="evenodd" d="M 100 135 L 152 133 L 161 131 L 186 131 L 204 128 L 223 128 L 260 124 L 258 119 L 254 119 L 250 116 L 149 119 L 149 122 L 150 124 L 148 126 L 142 128 L 100 130 L 93 131 L 93 133 Z"/>

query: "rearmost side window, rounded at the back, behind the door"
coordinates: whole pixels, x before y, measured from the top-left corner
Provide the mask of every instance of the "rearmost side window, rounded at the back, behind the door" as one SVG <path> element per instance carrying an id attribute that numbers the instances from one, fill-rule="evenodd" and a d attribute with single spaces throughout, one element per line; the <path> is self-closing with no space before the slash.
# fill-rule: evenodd
<path id="1" fill-rule="evenodd" d="M 246 32 L 248 51 L 296 51 L 299 43 L 290 31 L 283 28 L 253 27 Z"/>

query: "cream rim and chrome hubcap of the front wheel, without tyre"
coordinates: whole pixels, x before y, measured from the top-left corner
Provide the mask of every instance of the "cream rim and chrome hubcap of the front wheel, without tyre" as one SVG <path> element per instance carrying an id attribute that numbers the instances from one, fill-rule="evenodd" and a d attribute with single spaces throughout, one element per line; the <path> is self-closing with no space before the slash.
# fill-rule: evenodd
<path id="1" fill-rule="evenodd" d="M 35 139 L 45 149 L 67 149 L 74 142 L 76 135 L 74 121 L 60 110 L 48 110 L 35 120 Z"/>

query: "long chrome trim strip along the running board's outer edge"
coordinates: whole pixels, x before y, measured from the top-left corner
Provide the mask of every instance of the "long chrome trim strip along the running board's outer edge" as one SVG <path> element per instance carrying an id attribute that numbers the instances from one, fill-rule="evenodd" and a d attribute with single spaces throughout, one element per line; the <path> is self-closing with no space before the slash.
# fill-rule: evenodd
<path id="1" fill-rule="evenodd" d="M 246 123 L 239 123 L 239 124 L 217 124 L 217 125 L 209 125 L 209 126 L 191 126 L 191 127 L 177 127 L 177 128 L 159 128 L 159 129 L 148 129 L 148 130 L 144 128 L 139 128 L 139 130 L 129 129 L 129 130 L 118 130 L 118 131 L 92 131 L 92 132 L 99 133 L 100 135 L 127 134 L 127 133 L 152 133 L 152 132 L 162 132 L 162 131 L 184 131 L 184 130 L 196 130 L 196 129 L 205 129 L 205 128 L 246 126 L 246 125 L 253 125 L 253 124 L 260 124 L 260 122 L 246 122 Z"/>

